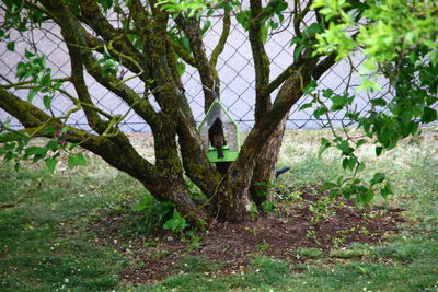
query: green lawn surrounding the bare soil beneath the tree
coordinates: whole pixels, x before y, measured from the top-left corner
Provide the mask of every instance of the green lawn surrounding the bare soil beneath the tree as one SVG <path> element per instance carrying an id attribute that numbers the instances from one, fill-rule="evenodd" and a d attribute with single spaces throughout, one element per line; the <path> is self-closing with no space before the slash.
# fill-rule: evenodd
<path id="1" fill-rule="evenodd" d="M 286 136 L 280 166 L 292 170 L 279 184 L 318 184 L 342 172 L 337 152 L 316 157 L 322 135 Z M 56 175 L 36 165 L 19 173 L 0 165 L 0 202 L 19 201 L 0 209 L 0 291 L 438 291 L 437 142 L 404 141 L 379 161 L 372 151 L 364 147 L 360 152 L 368 166 L 364 175 L 389 174 L 395 195 L 376 203 L 406 209 L 401 234 L 374 246 L 292 250 L 298 261 L 274 260 L 261 252 L 250 269 L 233 275 L 221 273 L 220 264 L 187 256 L 176 264 L 181 275 L 135 288 L 118 277 L 129 258 L 95 244 L 97 235 L 87 224 L 102 212 L 125 212 L 120 206 L 127 197 L 143 198 L 140 184 L 97 159 Z"/>

